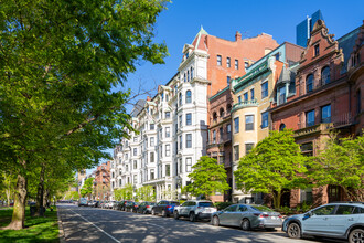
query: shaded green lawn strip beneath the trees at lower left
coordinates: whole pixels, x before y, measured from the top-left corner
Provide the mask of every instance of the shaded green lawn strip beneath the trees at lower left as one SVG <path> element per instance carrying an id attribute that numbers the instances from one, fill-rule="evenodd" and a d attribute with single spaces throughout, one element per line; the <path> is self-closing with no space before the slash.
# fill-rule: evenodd
<path id="1" fill-rule="evenodd" d="M 12 209 L 0 210 L 0 226 L 10 223 Z M 44 218 L 31 218 L 29 207 L 25 210 L 25 229 L 20 231 L 0 230 L 0 243 L 2 242 L 56 242 L 58 243 L 58 223 L 56 209 L 49 209 Z"/>

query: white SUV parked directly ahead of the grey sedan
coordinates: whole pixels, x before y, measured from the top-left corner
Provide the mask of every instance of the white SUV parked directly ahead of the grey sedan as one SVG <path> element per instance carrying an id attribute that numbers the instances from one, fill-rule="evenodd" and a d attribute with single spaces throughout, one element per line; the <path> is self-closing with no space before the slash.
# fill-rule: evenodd
<path id="1" fill-rule="evenodd" d="M 182 205 L 174 208 L 174 219 L 178 220 L 180 216 L 189 218 L 191 222 L 208 219 L 211 220 L 211 214 L 216 212 L 214 203 L 211 201 L 197 201 L 191 200 L 185 201 Z"/>

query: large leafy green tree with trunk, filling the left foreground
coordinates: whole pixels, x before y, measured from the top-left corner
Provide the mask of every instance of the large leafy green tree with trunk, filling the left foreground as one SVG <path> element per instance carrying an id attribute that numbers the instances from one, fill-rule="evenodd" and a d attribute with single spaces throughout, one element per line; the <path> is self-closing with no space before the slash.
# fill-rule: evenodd
<path id="1" fill-rule="evenodd" d="M 18 177 L 7 229 L 23 229 L 29 172 L 62 158 L 86 169 L 126 136 L 122 86 L 140 60 L 163 63 L 153 42 L 163 0 L 1 1 L 0 168 Z M 50 154 L 58 155 L 49 160 Z"/>

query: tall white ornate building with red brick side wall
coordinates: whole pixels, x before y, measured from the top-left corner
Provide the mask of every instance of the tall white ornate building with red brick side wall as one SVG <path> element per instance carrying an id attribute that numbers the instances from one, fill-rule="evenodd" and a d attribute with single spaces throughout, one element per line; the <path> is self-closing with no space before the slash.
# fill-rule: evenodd
<path id="1" fill-rule="evenodd" d="M 237 32 L 235 41 L 227 41 L 201 28 L 183 46 L 176 74 L 133 110 L 138 133 L 115 148 L 111 190 L 132 183 L 136 189 L 152 186 L 157 200 L 181 198 L 193 165 L 206 155 L 208 98 L 277 46 L 268 34 L 242 40 Z"/>

